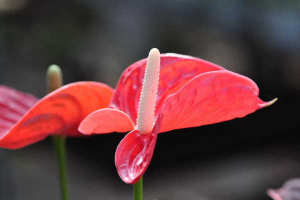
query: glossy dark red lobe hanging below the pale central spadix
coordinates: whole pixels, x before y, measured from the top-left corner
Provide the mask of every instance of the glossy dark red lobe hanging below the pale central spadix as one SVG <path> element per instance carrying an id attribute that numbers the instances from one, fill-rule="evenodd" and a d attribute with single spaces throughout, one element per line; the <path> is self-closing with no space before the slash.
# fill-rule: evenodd
<path id="1" fill-rule="evenodd" d="M 152 132 L 141 135 L 139 130 L 132 130 L 117 146 L 115 166 L 124 182 L 134 184 L 146 171 L 153 155 L 158 129 L 159 120 Z"/>

